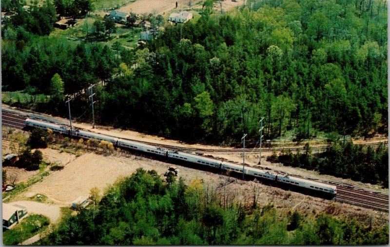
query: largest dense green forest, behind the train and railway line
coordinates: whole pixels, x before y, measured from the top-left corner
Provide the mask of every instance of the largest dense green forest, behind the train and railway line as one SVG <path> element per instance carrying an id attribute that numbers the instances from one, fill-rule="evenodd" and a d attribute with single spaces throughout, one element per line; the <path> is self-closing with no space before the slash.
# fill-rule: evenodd
<path id="1" fill-rule="evenodd" d="M 31 20 L 56 2 L 18 7 L 1 29 L 2 89 L 47 95 L 35 110 L 67 116 L 72 97 L 90 121 L 82 90 L 98 83 L 98 123 L 187 141 L 257 139 L 261 117 L 266 139 L 387 133 L 387 1 L 248 0 L 136 49 L 47 36 Z"/>

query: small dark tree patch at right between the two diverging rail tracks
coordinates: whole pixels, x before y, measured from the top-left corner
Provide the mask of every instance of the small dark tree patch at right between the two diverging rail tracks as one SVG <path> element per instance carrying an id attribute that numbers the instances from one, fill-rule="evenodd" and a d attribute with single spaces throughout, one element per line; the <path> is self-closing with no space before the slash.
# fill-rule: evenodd
<path id="1" fill-rule="evenodd" d="M 355 145 L 351 141 L 333 142 L 325 152 L 316 154 L 312 154 L 310 144 L 305 144 L 304 149 L 302 153 L 297 150 L 295 154 L 291 150 L 283 151 L 267 160 L 389 187 L 389 150 L 384 144 L 373 148 Z"/>

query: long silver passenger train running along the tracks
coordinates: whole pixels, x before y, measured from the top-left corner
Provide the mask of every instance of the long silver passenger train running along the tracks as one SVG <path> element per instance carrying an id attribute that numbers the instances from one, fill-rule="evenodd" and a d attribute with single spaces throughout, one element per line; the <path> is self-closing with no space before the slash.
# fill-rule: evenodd
<path id="1" fill-rule="evenodd" d="M 69 127 L 58 125 L 54 123 L 47 123 L 38 120 L 26 119 L 26 126 L 30 127 L 38 127 L 51 129 L 55 132 L 59 132 L 62 134 L 72 135 L 79 138 L 88 138 L 88 139 L 96 139 L 100 141 L 107 141 L 114 144 L 117 147 L 129 148 L 137 151 L 142 151 L 149 154 L 154 154 L 161 157 L 168 157 L 172 160 L 189 162 L 196 165 L 202 165 L 205 167 L 212 167 L 215 169 L 220 169 L 224 171 L 231 171 L 236 173 L 242 173 L 242 165 L 238 165 L 231 162 L 219 161 L 216 159 L 204 157 L 201 155 L 190 154 L 186 152 L 172 151 L 168 149 L 163 149 L 160 147 L 156 147 L 149 144 L 138 143 L 135 141 L 115 138 L 107 135 L 102 135 L 98 133 L 88 132 L 84 130 L 72 130 L 70 131 Z M 293 185 L 301 188 L 305 188 L 311 191 L 318 191 L 321 193 L 325 193 L 328 195 L 335 195 L 337 193 L 336 186 L 328 185 L 304 178 L 299 178 L 295 176 L 289 176 L 284 173 L 279 173 L 275 171 L 268 171 L 261 168 L 255 168 L 246 166 L 244 173 L 246 175 L 253 176 L 255 178 L 274 181 L 275 183 L 285 184 L 285 185 Z"/>

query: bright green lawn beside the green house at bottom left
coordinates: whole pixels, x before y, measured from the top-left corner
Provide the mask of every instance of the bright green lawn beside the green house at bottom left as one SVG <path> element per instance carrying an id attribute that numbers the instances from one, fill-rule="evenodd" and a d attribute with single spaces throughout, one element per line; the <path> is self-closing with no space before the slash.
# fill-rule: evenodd
<path id="1" fill-rule="evenodd" d="M 39 234 L 47 226 L 50 220 L 40 214 L 32 214 L 23 219 L 19 224 L 10 230 L 3 231 L 4 245 L 17 245 L 23 241 Z"/>

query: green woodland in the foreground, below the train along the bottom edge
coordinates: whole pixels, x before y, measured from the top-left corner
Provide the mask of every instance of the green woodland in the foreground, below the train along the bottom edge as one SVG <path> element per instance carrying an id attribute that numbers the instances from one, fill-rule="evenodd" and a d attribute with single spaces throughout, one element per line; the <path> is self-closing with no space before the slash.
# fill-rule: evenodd
<path id="1" fill-rule="evenodd" d="M 389 242 L 388 226 L 355 220 L 282 213 L 273 205 L 245 206 L 201 180 L 163 181 L 137 169 L 93 205 L 64 218 L 40 245 L 378 245 Z"/>

